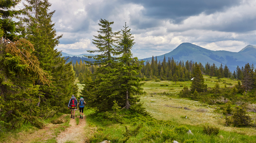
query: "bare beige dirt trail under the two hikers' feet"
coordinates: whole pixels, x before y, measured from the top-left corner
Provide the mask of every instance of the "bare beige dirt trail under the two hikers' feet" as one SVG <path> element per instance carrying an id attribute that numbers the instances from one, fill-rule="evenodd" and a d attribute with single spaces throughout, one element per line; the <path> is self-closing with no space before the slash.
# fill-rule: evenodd
<path id="1" fill-rule="evenodd" d="M 79 118 L 79 116 L 75 117 Z M 85 142 L 85 130 L 86 126 L 85 117 L 83 119 L 79 119 L 79 124 L 76 125 L 75 119 L 71 118 L 69 124 L 70 127 L 66 128 L 64 132 L 61 132 L 57 137 L 57 143 L 64 143 L 67 141 L 72 142 Z"/>

